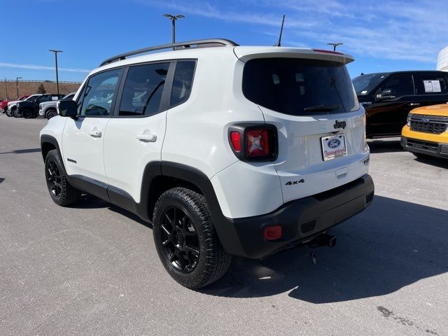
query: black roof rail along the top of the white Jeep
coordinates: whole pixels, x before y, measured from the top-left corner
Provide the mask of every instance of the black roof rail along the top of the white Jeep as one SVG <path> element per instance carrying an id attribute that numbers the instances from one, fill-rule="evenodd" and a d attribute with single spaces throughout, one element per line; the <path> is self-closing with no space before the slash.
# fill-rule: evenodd
<path id="1" fill-rule="evenodd" d="M 186 41 L 186 42 L 178 42 L 178 43 L 169 43 L 169 44 L 163 44 L 163 45 L 156 45 L 155 47 L 148 47 L 148 48 L 142 48 L 139 50 L 134 50 L 130 52 L 125 52 L 120 55 L 116 55 L 114 57 L 106 59 L 102 64 L 99 64 L 99 66 L 103 66 L 112 62 L 121 61 L 122 59 L 126 59 L 126 57 L 138 55 L 138 54 L 144 54 L 145 52 L 151 52 L 155 50 L 162 50 L 162 49 L 168 49 L 173 48 L 173 50 L 176 50 L 178 47 L 185 48 L 192 48 L 192 45 L 196 46 L 195 48 L 207 48 L 207 47 L 218 47 L 220 45 L 225 46 L 237 46 L 238 44 L 227 40 L 225 38 L 209 38 L 205 40 L 195 40 L 195 41 Z"/>

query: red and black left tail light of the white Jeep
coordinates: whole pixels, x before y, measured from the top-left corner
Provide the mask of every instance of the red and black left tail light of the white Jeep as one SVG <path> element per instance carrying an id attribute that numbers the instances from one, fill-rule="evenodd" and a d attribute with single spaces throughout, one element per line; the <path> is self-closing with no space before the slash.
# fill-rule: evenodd
<path id="1" fill-rule="evenodd" d="M 241 161 L 274 161 L 278 155 L 274 125 L 232 125 L 229 141 L 233 153 Z"/>

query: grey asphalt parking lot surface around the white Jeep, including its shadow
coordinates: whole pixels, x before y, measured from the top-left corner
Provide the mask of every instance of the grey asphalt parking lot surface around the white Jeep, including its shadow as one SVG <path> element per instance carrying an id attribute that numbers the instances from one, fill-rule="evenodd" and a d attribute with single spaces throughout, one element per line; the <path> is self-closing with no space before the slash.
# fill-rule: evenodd
<path id="1" fill-rule="evenodd" d="M 447 335 L 448 161 L 370 142 L 374 204 L 335 248 L 235 258 L 221 281 L 181 287 L 151 225 L 87 196 L 48 196 L 44 119 L 0 114 L 0 335 Z"/>

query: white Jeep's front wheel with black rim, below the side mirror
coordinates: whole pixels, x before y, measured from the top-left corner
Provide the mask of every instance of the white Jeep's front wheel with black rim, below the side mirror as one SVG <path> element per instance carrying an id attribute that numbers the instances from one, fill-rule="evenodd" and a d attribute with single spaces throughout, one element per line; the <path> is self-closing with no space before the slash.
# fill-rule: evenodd
<path id="1" fill-rule="evenodd" d="M 61 155 L 55 149 L 49 151 L 45 158 L 45 179 L 51 199 L 56 204 L 66 207 L 80 198 L 80 190 L 67 181 Z"/>

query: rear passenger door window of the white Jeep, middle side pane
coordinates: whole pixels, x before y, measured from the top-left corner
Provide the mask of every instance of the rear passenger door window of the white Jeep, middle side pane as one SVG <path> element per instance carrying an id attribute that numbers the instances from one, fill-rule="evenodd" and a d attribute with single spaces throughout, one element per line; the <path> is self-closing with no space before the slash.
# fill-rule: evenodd
<path id="1" fill-rule="evenodd" d="M 144 116 L 160 112 L 169 63 L 131 66 L 127 71 L 119 116 Z"/>

